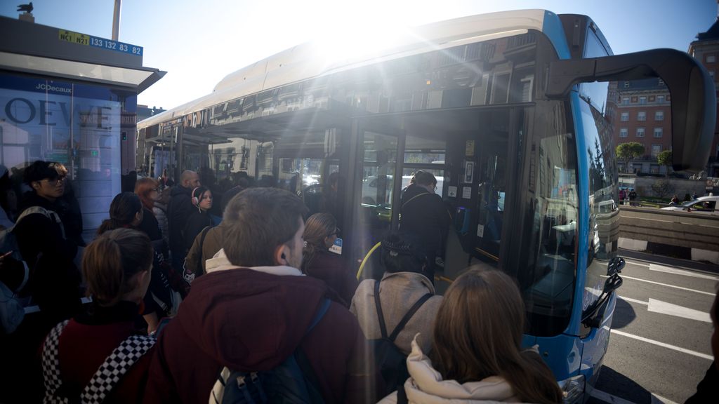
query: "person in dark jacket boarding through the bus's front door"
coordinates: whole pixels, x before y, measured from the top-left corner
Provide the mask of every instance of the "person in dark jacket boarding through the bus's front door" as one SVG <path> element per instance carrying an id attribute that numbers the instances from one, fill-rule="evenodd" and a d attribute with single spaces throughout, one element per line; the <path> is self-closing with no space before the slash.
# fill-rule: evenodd
<path id="1" fill-rule="evenodd" d="M 434 283 L 436 259 L 444 255 L 444 242 L 451 217 L 439 195 L 434 193 L 437 179 L 432 173 L 419 171 L 415 185 L 408 186 L 400 205 L 400 231 L 416 234 L 427 253 L 429 280 Z"/>

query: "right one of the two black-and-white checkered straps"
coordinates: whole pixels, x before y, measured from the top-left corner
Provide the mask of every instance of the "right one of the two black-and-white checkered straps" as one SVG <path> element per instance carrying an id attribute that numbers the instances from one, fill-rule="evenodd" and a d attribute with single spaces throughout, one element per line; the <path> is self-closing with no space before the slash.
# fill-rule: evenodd
<path id="1" fill-rule="evenodd" d="M 131 335 L 100 365 L 81 395 L 83 404 L 100 404 L 142 355 L 155 345 L 150 336 Z"/>

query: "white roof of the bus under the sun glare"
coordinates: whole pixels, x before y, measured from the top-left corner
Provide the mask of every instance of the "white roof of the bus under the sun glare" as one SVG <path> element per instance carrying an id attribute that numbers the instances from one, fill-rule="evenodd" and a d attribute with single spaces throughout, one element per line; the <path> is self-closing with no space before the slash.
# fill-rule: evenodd
<path id="1" fill-rule="evenodd" d="M 548 15 L 555 17 L 557 24 L 561 25 L 556 14 L 541 9 L 478 14 L 434 22 L 411 29 L 411 32 L 403 35 L 398 40 L 398 45 L 393 47 L 329 63 L 326 59 L 328 52 L 321 45 L 305 42 L 226 75 L 217 83 L 212 93 L 139 121 L 137 129 L 177 119 L 270 88 L 351 70 L 370 63 L 519 35 L 528 29 L 543 31 Z"/>

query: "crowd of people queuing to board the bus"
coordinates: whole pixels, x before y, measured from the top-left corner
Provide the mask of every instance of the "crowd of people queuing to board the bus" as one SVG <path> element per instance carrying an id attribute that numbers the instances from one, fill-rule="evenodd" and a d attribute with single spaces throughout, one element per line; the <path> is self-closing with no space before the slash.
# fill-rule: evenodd
<path id="1" fill-rule="evenodd" d="M 67 175 L 33 162 L 17 209 L 3 190 L 19 249 L 0 259 L 4 301 L 38 309 L 9 323 L 0 303 L 0 402 L 562 401 L 536 348 L 521 346 L 524 305 L 508 275 L 471 267 L 436 294 L 448 219 L 408 225 L 439 200 L 431 174 L 403 193 L 416 205 L 381 244 L 384 274 L 362 283 L 329 251 L 336 218 L 307 217 L 288 190 L 244 180 L 219 218 L 198 173 L 173 187 L 141 178 L 85 244 Z"/>

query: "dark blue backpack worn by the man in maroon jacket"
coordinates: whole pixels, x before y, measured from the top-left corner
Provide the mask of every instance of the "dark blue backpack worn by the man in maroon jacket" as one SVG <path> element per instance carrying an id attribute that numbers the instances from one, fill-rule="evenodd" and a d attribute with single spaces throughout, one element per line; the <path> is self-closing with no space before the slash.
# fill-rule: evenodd
<path id="1" fill-rule="evenodd" d="M 305 336 L 319 323 L 330 300 L 315 313 Z M 210 403 L 324 403 L 319 380 L 300 346 L 285 362 L 265 372 L 239 372 L 224 367 L 210 392 Z"/>

